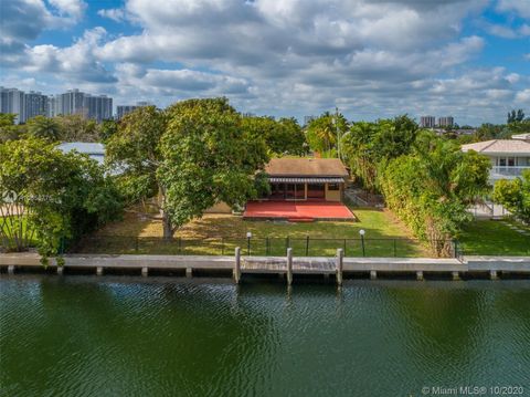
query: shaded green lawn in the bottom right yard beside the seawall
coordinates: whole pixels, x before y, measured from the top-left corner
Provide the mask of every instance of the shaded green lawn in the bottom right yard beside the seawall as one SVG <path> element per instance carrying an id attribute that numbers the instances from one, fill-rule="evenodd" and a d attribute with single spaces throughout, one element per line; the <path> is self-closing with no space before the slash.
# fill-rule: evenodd
<path id="1" fill-rule="evenodd" d="M 511 230 L 507 223 L 528 230 L 515 221 L 475 220 L 469 223 L 459 241 L 465 255 L 529 255 L 530 234 L 523 236 Z"/>

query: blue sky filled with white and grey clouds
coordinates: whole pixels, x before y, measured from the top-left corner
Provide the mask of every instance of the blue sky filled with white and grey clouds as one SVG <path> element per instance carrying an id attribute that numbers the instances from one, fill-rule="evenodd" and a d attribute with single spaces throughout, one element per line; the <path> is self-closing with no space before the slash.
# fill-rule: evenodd
<path id="1" fill-rule="evenodd" d="M 530 0 L 1 0 L 0 85 L 348 119 L 530 114 Z"/>

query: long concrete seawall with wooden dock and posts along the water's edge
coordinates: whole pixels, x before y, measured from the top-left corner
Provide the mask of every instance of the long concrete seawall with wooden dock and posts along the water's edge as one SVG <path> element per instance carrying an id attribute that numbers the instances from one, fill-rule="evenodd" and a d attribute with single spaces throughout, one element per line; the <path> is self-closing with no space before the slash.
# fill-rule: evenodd
<path id="1" fill-rule="evenodd" d="M 149 274 L 176 274 L 182 276 L 222 274 L 232 276 L 236 283 L 247 274 L 276 274 L 292 284 L 303 275 L 320 275 L 342 284 L 348 279 L 379 278 L 448 278 L 451 280 L 489 278 L 530 278 L 530 257 L 464 257 L 463 259 L 432 258 L 344 258 L 338 249 L 335 257 L 293 257 L 288 249 L 285 257 L 243 257 L 241 249 L 234 255 L 144 255 L 144 254 L 67 254 L 64 265 L 54 259 L 45 268 L 57 274 L 125 273 L 148 276 Z M 0 271 L 42 271 L 36 253 L 0 254 Z"/>

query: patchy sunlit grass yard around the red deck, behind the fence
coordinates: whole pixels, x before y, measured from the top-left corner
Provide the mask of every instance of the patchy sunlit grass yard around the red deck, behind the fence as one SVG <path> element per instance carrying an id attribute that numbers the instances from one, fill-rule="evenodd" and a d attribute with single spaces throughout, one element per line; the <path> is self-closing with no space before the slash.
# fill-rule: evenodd
<path id="1" fill-rule="evenodd" d="M 365 230 L 367 257 L 423 257 L 425 247 L 413 240 L 391 212 L 353 208 L 359 222 L 248 221 L 237 216 L 205 215 L 176 233 L 173 241 L 161 240 L 159 220 L 141 219 L 128 212 L 120 222 L 106 226 L 84 239 L 82 252 L 232 254 L 235 247 L 248 251 L 246 233 L 252 232 L 251 254 L 285 255 L 292 247 L 295 255 L 335 255 L 342 248 L 348 257 L 362 257 L 359 230 Z"/>

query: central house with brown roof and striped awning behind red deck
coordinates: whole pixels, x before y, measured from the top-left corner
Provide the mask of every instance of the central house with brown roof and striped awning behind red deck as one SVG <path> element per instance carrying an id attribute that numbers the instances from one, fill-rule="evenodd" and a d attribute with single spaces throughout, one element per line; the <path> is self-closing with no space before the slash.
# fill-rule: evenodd
<path id="1" fill-rule="evenodd" d="M 262 200 L 342 201 L 348 170 L 336 158 L 273 158 L 265 167 L 271 195 Z"/>

